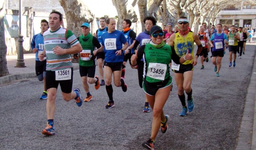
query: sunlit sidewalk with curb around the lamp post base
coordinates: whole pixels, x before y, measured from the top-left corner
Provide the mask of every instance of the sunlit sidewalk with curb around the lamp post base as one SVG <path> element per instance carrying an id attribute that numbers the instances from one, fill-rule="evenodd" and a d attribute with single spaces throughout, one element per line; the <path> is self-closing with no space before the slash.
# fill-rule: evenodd
<path id="1" fill-rule="evenodd" d="M 9 75 L 0 77 L 0 86 L 24 80 L 28 78 L 36 78 L 35 74 L 35 54 L 27 53 L 24 54 L 24 68 L 18 68 L 16 66 L 18 55 L 6 55 L 7 68 Z M 74 70 L 78 70 L 79 66 L 77 63 L 73 64 Z"/>

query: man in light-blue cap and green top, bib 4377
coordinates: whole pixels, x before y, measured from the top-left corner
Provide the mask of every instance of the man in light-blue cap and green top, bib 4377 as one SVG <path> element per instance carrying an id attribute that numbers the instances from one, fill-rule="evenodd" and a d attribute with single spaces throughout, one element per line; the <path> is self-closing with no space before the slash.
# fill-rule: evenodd
<path id="1" fill-rule="evenodd" d="M 90 33 L 90 24 L 83 23 L 81 26 L 82 34 L 80 37 L 77 37 L 77 40 L 82 45 L 83 51 L 79 53 L 79 72 L 80 77 L 82 78 L 83 89 L 87 94 L 84 102 L 90 102 L 93 100 L 93 96 L 89 91 L 89 84 L 95 84 L 94 88 L 99 89 L 99 77 L 95 76 L 95 56 L 93 55 L 93 50 L 95 47 L 103 50 L 103 46 L 99 44 L 99 41 L 96 37 Z M 94 77 L 95 76 L 95 77 Z M 88 83 L 87 83 L 88 82 Z"/>

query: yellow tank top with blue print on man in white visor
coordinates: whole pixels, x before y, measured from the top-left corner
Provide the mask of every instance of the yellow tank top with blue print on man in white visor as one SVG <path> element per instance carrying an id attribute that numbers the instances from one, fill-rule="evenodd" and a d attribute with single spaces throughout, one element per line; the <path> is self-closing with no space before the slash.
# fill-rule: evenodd
<path id="1" fill-rule="evenodd" d="M 189 31 L 186 37 L 181 37 L 179 32 L 175 33 L 174 49 L 178 56 L 182 57 L 186 55 L 187 49 L 194 58 L 194 39 L 193 32 Z M 191 64 L 192 60 L 187 60 L 183 64 Z"/>

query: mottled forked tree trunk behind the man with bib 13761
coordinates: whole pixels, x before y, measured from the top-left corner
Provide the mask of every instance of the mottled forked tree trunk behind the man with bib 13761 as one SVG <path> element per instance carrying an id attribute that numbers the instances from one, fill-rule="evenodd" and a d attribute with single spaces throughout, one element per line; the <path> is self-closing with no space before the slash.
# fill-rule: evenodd
<path id="1" fill-rule="evenodd" d="M 124 19 L 130 19 L 131 22 L 137 22 L 138 18 L 133 9 L 131 1 L 128 0 L 112 0 L 113 5 L 117 9 L 118 21 L 117 29 L 122 31 L 122 23 Z M 134 2 L 136 3 L 136 1 Z M 134 5 L 135 6 L 135 5 Z"/>

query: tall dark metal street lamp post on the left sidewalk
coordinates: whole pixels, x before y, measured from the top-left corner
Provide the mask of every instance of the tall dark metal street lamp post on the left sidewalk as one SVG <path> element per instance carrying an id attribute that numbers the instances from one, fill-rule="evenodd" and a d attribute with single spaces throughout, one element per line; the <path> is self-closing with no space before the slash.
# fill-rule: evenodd
<path id="1" fill-rule="evenodd" d="M 21 16 L 22 16 L 22 0 L 19 0 L 19 39 L 18 39 L 18 58 L 15 67 L 23 68 L 25 66 L 23 57 L 23 35 L 21 34 Z"/>

